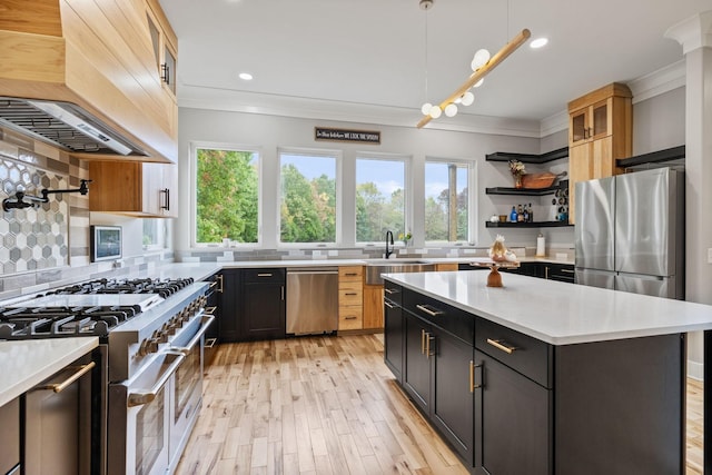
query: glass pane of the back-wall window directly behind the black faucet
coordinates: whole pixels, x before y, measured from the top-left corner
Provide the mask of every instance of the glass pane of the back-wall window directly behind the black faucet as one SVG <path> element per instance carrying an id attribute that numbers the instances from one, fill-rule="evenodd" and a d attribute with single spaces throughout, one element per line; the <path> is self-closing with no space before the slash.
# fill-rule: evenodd
<path id="1" fill-rule="evenodd" d="M 375 243 L 405 228 L 405 159 L 356 158 L 356 241 Z"/>

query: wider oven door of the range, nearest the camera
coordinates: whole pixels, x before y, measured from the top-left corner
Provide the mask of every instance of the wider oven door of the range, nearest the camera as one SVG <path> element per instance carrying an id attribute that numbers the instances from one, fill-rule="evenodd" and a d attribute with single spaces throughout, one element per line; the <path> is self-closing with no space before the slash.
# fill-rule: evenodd
<path id="1" fill-rule="evenodd" d="M 109 475 L 168 469 L 171 390 L 185 359 L 181 353 L 159 353 L 131 380 L 109 386 Z"/>

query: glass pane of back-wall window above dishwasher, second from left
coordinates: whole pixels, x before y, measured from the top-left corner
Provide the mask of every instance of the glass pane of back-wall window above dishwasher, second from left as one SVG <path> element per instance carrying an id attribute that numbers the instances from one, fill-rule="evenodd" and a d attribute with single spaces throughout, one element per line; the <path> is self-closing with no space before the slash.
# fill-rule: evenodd
<path id="1" fill-rule="evenodd" d="M 281 243 L 336 243 L 336 154 L 279 152 Z"/>

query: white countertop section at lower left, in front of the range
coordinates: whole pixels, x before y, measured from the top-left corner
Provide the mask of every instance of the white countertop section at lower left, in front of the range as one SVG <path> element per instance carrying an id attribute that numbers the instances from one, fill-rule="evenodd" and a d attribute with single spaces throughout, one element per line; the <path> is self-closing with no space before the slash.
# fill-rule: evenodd
<path id="1" fill-rule="evenodd" d="M 0 342 L 0 406 L 99 345 L 97 337 Z"/>

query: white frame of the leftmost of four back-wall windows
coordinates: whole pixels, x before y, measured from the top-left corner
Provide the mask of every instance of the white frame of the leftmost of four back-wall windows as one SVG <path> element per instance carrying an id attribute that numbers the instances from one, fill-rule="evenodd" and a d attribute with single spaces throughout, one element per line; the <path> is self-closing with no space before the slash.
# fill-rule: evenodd
<path id="1" fill-rule="evenodd" d="M 264 154 L 261 147 L 238 144 L 191 141 L 190 142 L 190 246 L 195 248 L 224 248 L 222 243 L 198 243 L 198 149 L 247 151 L 257 155 L 257 241 L 235 243 L 230 248 L 259 249 L 264 245 L 263 238 L 263 167 Z"/>

